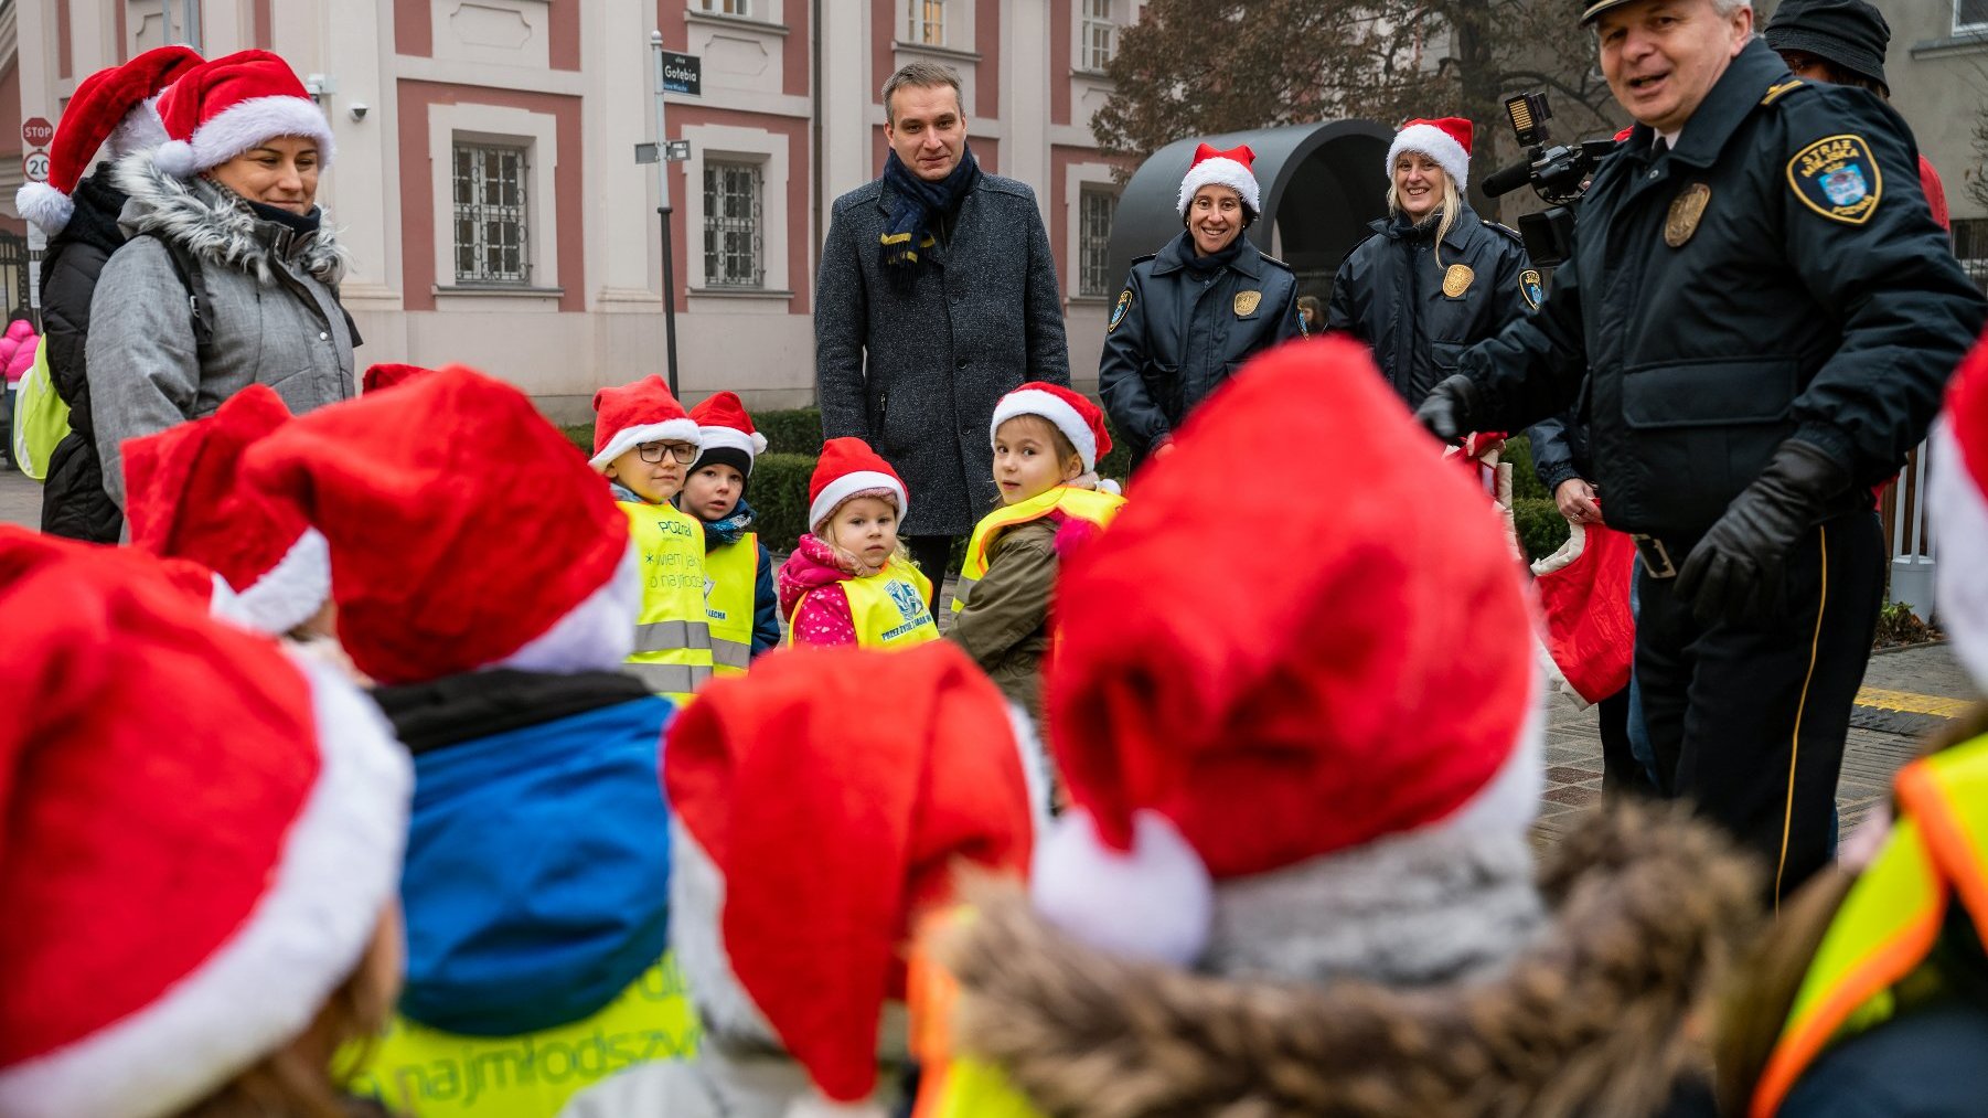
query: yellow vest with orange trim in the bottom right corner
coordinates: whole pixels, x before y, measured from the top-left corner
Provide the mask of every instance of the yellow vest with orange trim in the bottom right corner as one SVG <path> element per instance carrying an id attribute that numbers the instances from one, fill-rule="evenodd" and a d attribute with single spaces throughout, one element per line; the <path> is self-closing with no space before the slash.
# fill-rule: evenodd
<path id="1" fill-rule="evenodd" d="M 1988 929 L 1988 736 L 1920 758 L 1893 782 L 1899 822 L 1823 933 L 1753 1090 L 1769 1118 L 1831 1044 L 1901 1011 L 1901 985 L 1940 989 L 1928 955 L 1946 905 Z M 1910 983 L 1908 983 L 1910 979 Z"/>

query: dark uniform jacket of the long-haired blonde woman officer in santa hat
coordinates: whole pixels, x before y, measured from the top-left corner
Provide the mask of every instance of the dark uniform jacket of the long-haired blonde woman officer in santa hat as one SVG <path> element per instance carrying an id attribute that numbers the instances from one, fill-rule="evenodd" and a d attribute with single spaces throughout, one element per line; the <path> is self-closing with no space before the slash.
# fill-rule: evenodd
<path id="1" fill-rule="evenodd" d="M 1384 217 L 1332 277 L 1328 330 L 1374 346 L 1374 364 L 1409 408 L 1457 372 L 1475 342 L 1539 304 L 1541 279 L 1519 235 L 1469 207 L 1457 211 L 1441 251 L 1435 225 Z"/>

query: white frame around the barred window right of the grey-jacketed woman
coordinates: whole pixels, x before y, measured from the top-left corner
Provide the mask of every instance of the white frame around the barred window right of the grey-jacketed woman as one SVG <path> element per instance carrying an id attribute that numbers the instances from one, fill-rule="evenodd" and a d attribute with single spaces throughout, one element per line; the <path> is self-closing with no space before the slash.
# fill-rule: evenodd
<path id="1" fill-rule="evenodd" d="M 527 284 L 455 282 L 455 143 L 525 149 L 525 253 Z M 551 292 L 561 286 L 559 219 L 553 171 L 559 167 L 559 117 L 509 105 L 427 105 L 427 161 L 433 183 L 435 288 L 439 294 Z M 579 280 L 579 277 L 573 277 Z M 445 304 L 445 302 L 443 302 Z M 437 306 L 443 306 L 437 304 Z"/>

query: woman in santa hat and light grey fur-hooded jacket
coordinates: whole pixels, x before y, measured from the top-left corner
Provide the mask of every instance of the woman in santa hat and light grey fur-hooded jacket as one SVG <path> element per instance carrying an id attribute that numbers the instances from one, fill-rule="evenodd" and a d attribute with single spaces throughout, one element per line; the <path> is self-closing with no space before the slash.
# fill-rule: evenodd
<path id="1" fill-rule="evenodd" d="M 360 342 L 316 205 L 332 129 L 290 66 L 260 50 L 207 62 L 159 97 L 159 117 L 171 139 L 117 163 L 129 241 L 91 300 L 89 396 L 119 507 L 125 440 L 250 384 L 298 414 L 350 398 Z"/>

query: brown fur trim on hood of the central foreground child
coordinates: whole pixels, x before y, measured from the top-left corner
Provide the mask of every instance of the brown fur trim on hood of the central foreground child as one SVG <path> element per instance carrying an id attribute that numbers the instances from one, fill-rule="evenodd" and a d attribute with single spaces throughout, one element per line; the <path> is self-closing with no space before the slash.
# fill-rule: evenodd
<path id="1" fill-rule="evenodd" d="M 1551 923 L 1501 975 L 1409 991 L 1129 963 L 982 885 L 940 955 L 956 1046 L 1058 1118 L 1658 1110 L 1706 1070 L 1714 989 L 1759 919 L 1755 865 L 1682 810 L 1610 806 L 1539 889 Z"/>

